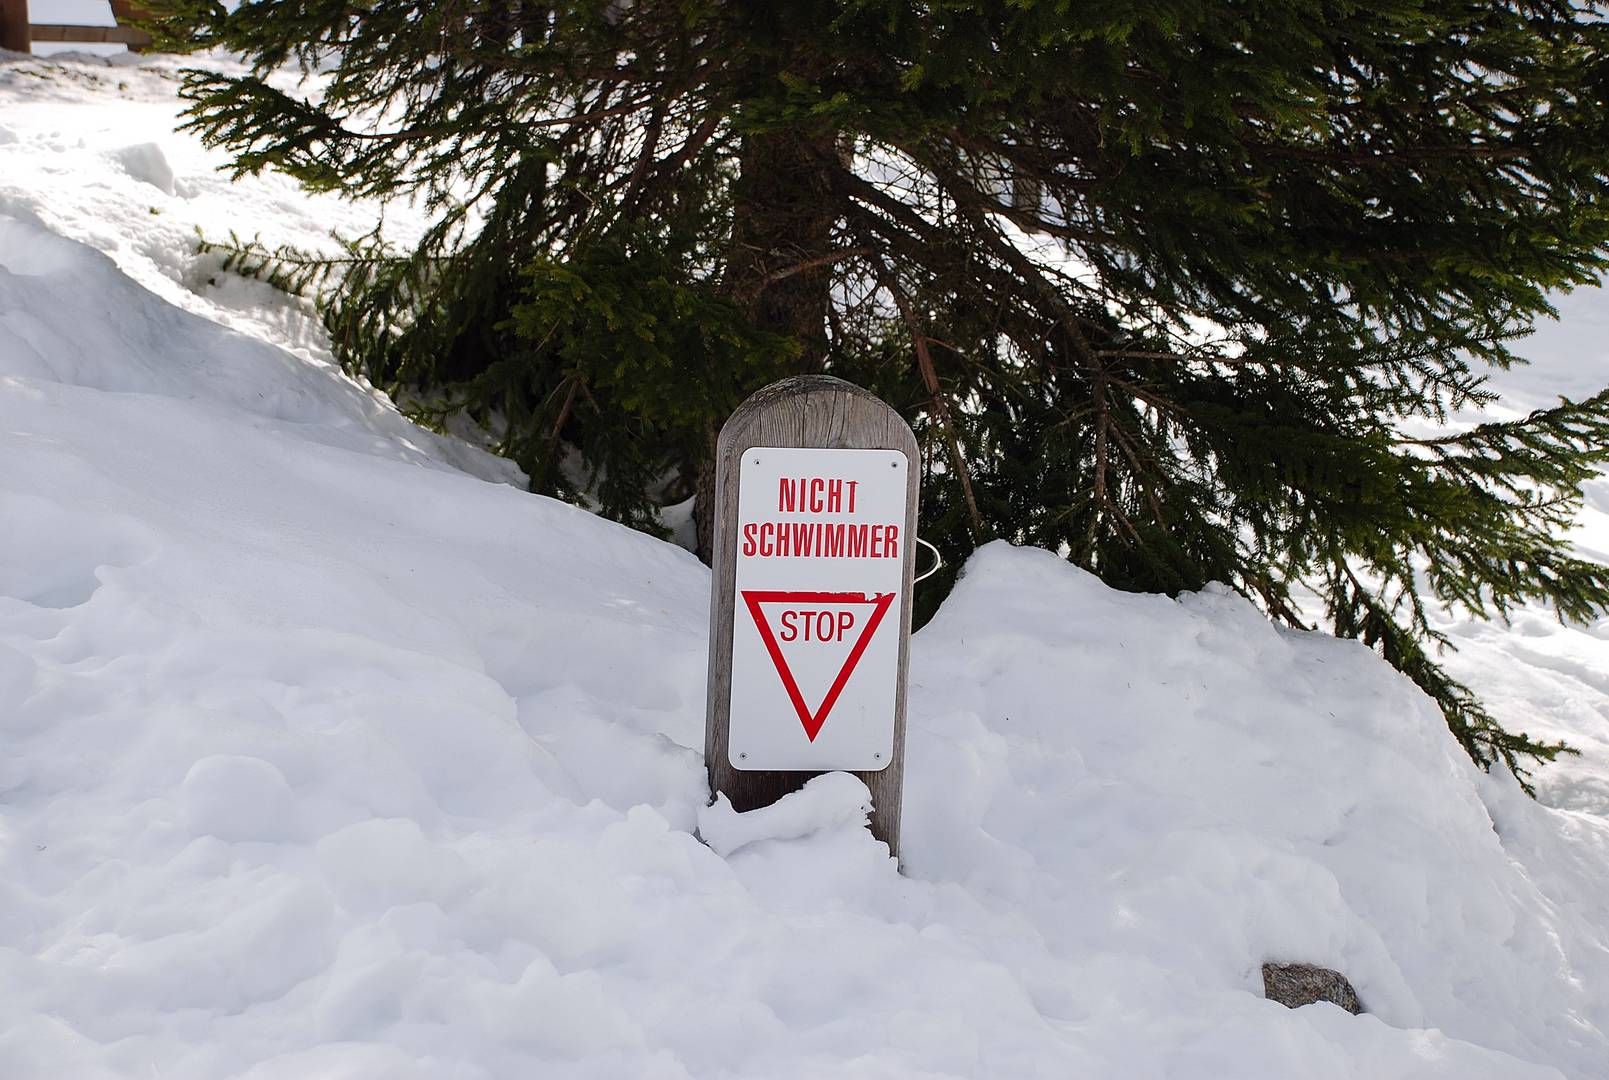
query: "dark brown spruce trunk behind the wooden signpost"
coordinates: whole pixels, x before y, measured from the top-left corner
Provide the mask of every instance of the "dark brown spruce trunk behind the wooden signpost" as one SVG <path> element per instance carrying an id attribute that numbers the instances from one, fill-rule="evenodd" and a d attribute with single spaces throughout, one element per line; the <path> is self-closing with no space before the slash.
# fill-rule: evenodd
<path id="1" fill-rule="evenodd" d="M 755 327 L 798 343 L 788 373 L 819 373 L 827 365 L 827 256 L 835 221 L 830 185 L 840 164 L 838 138 L 833 132 L 790 129 L 751 134 L 743 138 L 739 161 L 724 291 Z M 714 443 L 724 418 L 710 425 L 693 501 L 698 557 L 706 563 L 714 550 Z"/>

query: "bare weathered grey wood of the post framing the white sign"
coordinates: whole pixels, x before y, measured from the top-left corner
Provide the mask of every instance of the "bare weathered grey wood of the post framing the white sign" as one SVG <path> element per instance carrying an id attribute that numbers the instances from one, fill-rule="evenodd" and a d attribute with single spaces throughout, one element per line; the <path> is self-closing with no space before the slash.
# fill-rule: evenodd
<path id="1" fill-rule="evenodd" d="M 816 773 L 737 769 L 727 758 L 732 707 L 732 612 L 737 562 L 737 496 L 742 454 L 756 446 L 901 451 L 906 470 L 904 534 L 916 536 L 919 473 L 911 427 L 875 394 L 829 375 L 800 375 L 772 383 L 737 407 L 716 446 L 714 552 L 710 586 L 710 678 L 705 711 L 705 766 L 711 794 L 721 792 L 739 811 L 767 806 L 798 790 Z M 899 805 L 904 794 L 906 671 L 911 662 L 911 597 L 916 544 L 907 539 L 898 613 L 899 670 L 895 697 L 895 744 L 887 768 L 854 773 L 872 794 L 872 835 L 899 856 Z"/>

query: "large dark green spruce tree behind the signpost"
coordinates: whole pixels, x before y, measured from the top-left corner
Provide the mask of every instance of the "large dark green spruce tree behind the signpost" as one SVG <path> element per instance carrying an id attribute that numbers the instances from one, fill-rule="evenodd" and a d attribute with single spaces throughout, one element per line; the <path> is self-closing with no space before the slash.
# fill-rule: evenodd
<path id="1" fill-rule="evenodd" d="M 232 259 L 315 290 L 354 372 L 488 423 L 533 489 L 653 528 L 743 394 L 843 375 L 916 427 L 953 563 L 1007 538 L 1290 625 L 1316 596 L 1524 781 L 1559 747 L 1442 670 L 1426 604 L 1609 607 L 1562 539 L 1609 394 L 1448 427 L 1604 269 L 1603 16 L 171 0 L 158 29 L 245 56 L 183 85 L 238 172 L 430 208 L 407 249 Z"/>

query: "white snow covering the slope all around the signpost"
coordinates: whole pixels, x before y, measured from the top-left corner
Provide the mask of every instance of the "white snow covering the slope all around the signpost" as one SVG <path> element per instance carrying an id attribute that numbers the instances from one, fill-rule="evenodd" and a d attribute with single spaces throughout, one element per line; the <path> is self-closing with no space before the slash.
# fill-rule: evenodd
<path id="1" fill-rule="evenodd" d="M 1358 644 L 996 544 L 914 639 L 904 874 L 851 777 L 706 806 L 705 568 L 193 254 L 365 211 L 172 87 L 0 64 L 0 1077 L 1609 1075 L 1604 623 L 1461 631 L 1590 750 L 1533 803 Z"/>

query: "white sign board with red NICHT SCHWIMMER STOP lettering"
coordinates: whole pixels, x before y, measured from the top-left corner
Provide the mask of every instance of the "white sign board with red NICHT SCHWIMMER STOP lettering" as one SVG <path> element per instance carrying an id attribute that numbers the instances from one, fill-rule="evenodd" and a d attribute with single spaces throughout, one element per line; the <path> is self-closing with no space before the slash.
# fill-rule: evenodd
<path id="1" fill-rule="evenodd" d="M 877 771 L 895 745 L 904 586 L 899 451 L 756 446 L 737 486 L 727 756 Z"/>

